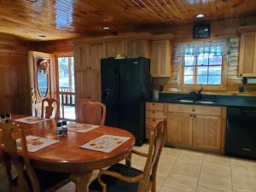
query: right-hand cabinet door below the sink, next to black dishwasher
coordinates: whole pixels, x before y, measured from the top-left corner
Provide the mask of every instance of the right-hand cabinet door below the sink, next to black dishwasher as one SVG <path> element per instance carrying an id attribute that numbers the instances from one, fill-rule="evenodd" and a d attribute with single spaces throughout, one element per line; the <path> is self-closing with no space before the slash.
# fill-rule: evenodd
<path id="1" fill-rule="evenodd" d="M 196 115 L 193 119 L 193 144 L 197 147 L 220 150 L 221 117 Z"/>

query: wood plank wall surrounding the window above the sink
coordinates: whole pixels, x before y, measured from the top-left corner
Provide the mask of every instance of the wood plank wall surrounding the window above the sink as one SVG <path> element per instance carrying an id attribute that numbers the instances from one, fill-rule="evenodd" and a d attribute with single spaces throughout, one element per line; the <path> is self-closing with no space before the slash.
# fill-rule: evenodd
<path id="1" fill-rule="evenodd" d="M 256 18 L 248 19 L 234 19 L 215 21 L 211 23 L 211 38 L 203 40 L 215 40 L 218 38 L 230 38 L 230 55 L 228 55 L 228 70 L 227 70 L 227 84 L 226 90 L 211 90 L 214 94 L 233 95 L 237 94 L 239 86 L 242 84 L 242 79 L 237 76 L 238 71 L 238 56 L 239 56 L 239 44 L 240 33 L 237 32 L 238 26 L 253 25 L 256 23 Z M 186 92 L 189 90 L 183 90 L 178 88 L 177 84 L 177 67 L 181 65 L 181 58 L 175 57 L 175 49 L 178 43 L 186 43 L 192 41 L 198 41 L 198 39 L 192 38 L 193 26 L 173 26 L 166 29 L 161 29 L 155 32 L 166 33 L 172 32 L 174 37 L 172 39 L 172 61 L 171 70 L 172 75 L 170 78 L 154 78 L 154 89 L 158 89 L 159 85 L 164 85 L 164 90 L 169 92 L 177 90 L 180 92 Z M 246 85 L 244 94 L 256 93 L 256 85 Z"/>

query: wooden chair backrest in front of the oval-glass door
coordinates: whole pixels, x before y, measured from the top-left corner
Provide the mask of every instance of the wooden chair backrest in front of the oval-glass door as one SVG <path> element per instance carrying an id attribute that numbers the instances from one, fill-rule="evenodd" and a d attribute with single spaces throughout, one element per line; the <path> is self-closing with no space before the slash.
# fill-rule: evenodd
<path id="1" fill-rule="evenodd" d="M 44 104 L 47 103 L 47 106 Z M 55 106 L 54 106 L 55 104 Z M 45 112 L 44 112 L 45 109 Z M 55 109 L 55 114 L 53 114 Z M 42 118 L 50 119 L 51 116 L 54 116 L 55 119 L 59 119 L 60 117 L 60 105 L 59 102 L 53 98 L 45 98 L 42 101 Z"/>

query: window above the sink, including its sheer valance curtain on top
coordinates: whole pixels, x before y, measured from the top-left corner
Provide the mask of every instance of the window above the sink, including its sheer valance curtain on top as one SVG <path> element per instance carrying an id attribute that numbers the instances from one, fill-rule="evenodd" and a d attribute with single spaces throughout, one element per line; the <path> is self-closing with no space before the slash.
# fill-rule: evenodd
<path id="1" fill-rule="evenodd" d="M 204 85 L 224 88 L 224 55 L 228 55 L 229 49 L 229 39 L 177 44 L 176 57 L 182 58 L 183 63 L 182 67 L 178 67 L 179 84 L 184 87 Z"/>

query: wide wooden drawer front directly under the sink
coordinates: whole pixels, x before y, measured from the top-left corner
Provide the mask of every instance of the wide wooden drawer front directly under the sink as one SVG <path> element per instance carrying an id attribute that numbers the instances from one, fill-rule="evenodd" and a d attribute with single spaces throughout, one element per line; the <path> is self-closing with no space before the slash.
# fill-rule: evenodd
<path id="1" fill-rule="evenodd" d="M 221 116 L 221 108 L 214 107 L 214 106 L 168 104 L 168 112 L 195 113 L 195 114 Z"/>

